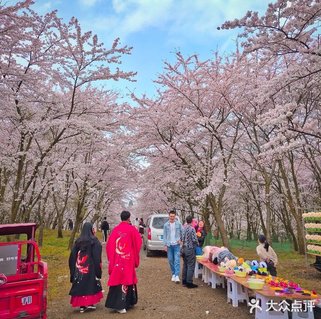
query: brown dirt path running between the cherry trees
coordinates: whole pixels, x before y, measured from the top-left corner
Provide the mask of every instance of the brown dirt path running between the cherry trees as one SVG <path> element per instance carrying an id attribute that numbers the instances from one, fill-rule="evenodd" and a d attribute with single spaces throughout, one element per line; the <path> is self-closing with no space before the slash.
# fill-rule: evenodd
<path id="1" fill-rule="evenodd" d="M 107 269 L 106 254 L 103 247 L 103 270 Z M 106 272 L 105 272 L 106 273 Z M 97 304 L 96 310 L 87 310 L 79 313 L 79 308 L 72 308 L 69 304 L 70 297 L 53 302 L 48 309 L 48 319 L 106 319 L 106 318 L 145 318 L 145 319 L 188 319 L 188 318 L 238 318 L 254 319 L 249 313 L 249 307 L 241 304 L 239 307 L 232 307 L 227 304 L 226 289 L 212 289 L 201 279 L 195 279 L 198 289 L 188 289 L 181 284 L 172 282 L 171 273 L 166 254 L 158 253 L 153 257 L 146 257 L 141 251 L 141 262 L 137 269 L 137 290 L 138 304 L 127 311 L 126 314 L 119 314 L 105 308 L 105 301 L 108 292 L 108 278 L 101 280 L 104 292 L 104 299 Z M 199 276 L 201 278 L 201 276 Z M 205 311 L 209 314 L 206 315 Z"/>

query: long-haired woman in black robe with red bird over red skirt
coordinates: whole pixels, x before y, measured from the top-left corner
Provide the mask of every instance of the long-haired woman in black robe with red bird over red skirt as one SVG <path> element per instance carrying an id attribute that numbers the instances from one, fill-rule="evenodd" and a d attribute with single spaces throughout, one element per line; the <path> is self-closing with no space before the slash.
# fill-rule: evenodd
<path id="1" fill-rule="evenodd" d="M 87 309 L 96 309 L 95 304 L 103 298 L 101 288 L 101 250 L 100 241 L 93 233 L 91 223 L 85 223 L 76 239 L 69 256 L 70 282 L 72 287 L 70 303 Z"/>

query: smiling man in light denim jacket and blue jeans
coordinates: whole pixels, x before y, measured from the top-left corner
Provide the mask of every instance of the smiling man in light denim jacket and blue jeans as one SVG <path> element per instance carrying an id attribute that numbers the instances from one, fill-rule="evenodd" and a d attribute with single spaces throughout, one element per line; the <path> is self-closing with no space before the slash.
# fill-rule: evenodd
<path id="1" fill-rule="evenodd" d="M 180 244 L 182 243 L 183 225 L 175 219 L 174 210 L 169 212 L 169 221 L 164 225 L 163 245 L 169 261 L 170 270 L 172 272 L 172 281 L 179 284 L 179 268 L 180 268 Z"/>

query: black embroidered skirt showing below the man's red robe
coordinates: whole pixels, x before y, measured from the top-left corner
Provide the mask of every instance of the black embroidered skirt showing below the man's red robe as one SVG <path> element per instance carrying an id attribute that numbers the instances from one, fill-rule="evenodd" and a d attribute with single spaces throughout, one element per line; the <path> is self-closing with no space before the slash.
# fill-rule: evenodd
<path id="1" fill-rule="evenodd" d="M 117 285 L 110 286 L 105 303 L 106 308 L 110 309 L 128 309 L 137 304 L 137 286 L 136 285 Z"/>

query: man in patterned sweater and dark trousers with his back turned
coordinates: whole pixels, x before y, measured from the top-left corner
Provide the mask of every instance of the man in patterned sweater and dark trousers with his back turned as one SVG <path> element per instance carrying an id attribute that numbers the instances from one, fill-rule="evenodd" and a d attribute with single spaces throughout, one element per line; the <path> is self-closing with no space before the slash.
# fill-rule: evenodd
<path id="1" fill-rule="evenodd" d="M 193 284 L 193 275 L 195 270 L 195 246 L 198 246 L 198 239 L 196 236 L 195 228 L 193 225 L 193 218 L 191 216 L 186 217 L 187 225 L 182 232 L 183 238 L 183 271 L 182 271 L 182 284 L 187 288 L 198 288 Z"/>

